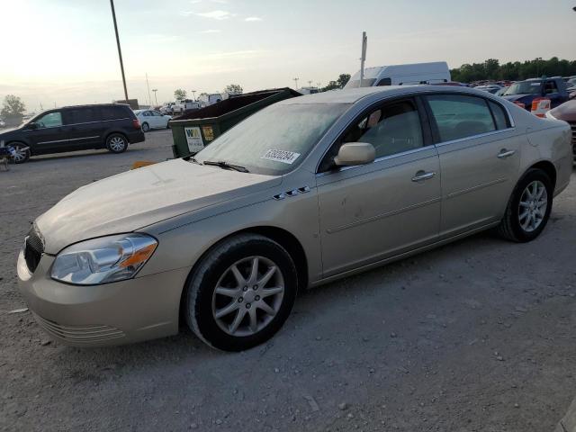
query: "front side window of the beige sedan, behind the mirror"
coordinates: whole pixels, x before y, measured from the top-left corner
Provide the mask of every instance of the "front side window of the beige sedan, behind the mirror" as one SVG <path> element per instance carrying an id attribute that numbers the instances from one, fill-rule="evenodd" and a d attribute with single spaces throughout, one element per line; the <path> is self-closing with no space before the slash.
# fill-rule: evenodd
<path id="1" fill-rule="evenodd" d="M 422 147 L 424 139 L 416 103 L 410 99 L 387 103 L 355 121 L 330 148 L 320 172 L 334 168 L 334 157 L 347 142 L 372 144 L 376 159 Z"/>

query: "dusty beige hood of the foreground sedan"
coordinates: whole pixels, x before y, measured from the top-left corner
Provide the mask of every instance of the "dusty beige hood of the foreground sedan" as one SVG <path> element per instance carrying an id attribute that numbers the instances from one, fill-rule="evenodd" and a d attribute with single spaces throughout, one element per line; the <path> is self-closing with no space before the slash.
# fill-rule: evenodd
<path id="1" fill-rule="evenodd" d="M 257 193 L 282 177 L 238 173 L 175 159 L 87 184 L 36 220 L 45 251 L 141 229 L 190 211 Z"/>

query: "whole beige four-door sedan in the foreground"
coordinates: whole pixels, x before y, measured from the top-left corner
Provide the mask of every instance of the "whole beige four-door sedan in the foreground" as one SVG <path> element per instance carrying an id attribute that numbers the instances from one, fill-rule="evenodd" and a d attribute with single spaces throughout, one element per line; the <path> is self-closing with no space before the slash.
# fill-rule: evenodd
<path id="1" fill-rule="evenodd" d="M 164 337 L 184 321 L 211 347 L 254 347 L 298 290 L 483 229 L 537 238 L 570 182 L 570 139 L 564 121 L 464 87 L 287 99 L 195 157 L 67 195 L 25 238 L 21 289 L 70 345 Z"/>

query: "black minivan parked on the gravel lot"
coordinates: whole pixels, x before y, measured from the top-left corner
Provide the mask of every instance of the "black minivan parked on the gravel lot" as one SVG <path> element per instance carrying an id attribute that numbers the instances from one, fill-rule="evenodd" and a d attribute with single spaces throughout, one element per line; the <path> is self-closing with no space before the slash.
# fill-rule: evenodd
<path id="1" fill-rule="evenodd" d="M 122 153 L 129 144 L 143 141 L 144 133 L 130 106 L 103 103 L 42 112 L 0 133 L 0 140 L 14 148 L 14 162 L 22 164 L 31 156 L 91 148 Z"/>

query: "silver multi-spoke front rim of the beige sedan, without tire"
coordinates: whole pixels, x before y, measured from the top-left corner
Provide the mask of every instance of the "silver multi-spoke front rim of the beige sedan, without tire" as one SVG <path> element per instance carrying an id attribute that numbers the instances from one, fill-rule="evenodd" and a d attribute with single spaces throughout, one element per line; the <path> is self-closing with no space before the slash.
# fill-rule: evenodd
<path id="1" fill-rule="evenodd" d="M 283 298 L 280 268 L 266 257 L 247 257 L 220 276 L 212 294 L 212 316 L 227 334 L 251 336 L 274 320 Z"/>

